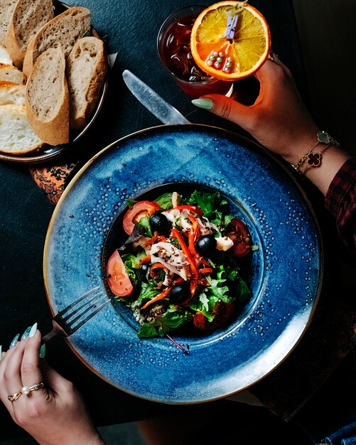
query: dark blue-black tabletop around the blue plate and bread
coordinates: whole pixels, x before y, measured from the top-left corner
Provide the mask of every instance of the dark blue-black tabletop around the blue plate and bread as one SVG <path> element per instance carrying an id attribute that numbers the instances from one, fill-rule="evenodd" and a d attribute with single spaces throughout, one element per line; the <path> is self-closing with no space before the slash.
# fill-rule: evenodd
<path id="1" fill-rule="evenodd" d="M 153 127 L 158 120 L 153 117 L 126 89 L 122 71 L 129 69 L 158 94 L 171 102 L 191 122 L 212 124 L 244 134 L 242 129 L 208 112 L 196 109 L 181 92 L 169 73 L 163 68 L 156 52 L 156 36 L 164 18 L 180 7 L 188 6 L 185 0 L 82 0 L 67 4 L 87 6 L 92 12 L 92 23 L 107 44 L 108 53 L 117 53 L 109 73 L 109 91 L 95 124 L 70 151 L 52 164 L 68 163 L 80 159 L 84 162 L 100 149 L 121 136 L 139 129 Z M 293 7 L 289 0 L 251 0 L 269 22 L 272 45 L 281 60 L 291 68 L 303 99 L 308 104 L 308 94 L 298 45 Z M 200 1 L 210 5 L 210 1 Z M 239 90 L 253 87 L 247 82 Z M 34 183 L 28 166 L 0 163 L 0 343 L 7 349 L 16 333 L 38 322 L 43 333 L 51 327 L 51 313 L 43 285 L 43 246 L 54 205 Z M 313 188 L 307 193 L 320 204 L 322 200 Z M 328 217 L 323 210 L 323 224 Z M 323 227 L 322 227 L 323 228 Z M 335 242 L 337 245 L 337 242 Z M 329 248 L 333 249 L 333 242 Z M 339 246 L 337 245 L 337 249 Z M 335 273 L 335 272 L 334 272 Z M 90 406 L 97 425 L 131 422 L 159 414 L 184 412 L 188 407 L 165 406 L 140 400 L 115 389 L 83 365 L 72 353 L 63 338 L 48 344 L 48 361 L 65 377 L 75 382 Z M 214 402 L 219 405 L 223 402 Z M 21 434 L 4 407 L 0 407 L 0 439 Z"/>

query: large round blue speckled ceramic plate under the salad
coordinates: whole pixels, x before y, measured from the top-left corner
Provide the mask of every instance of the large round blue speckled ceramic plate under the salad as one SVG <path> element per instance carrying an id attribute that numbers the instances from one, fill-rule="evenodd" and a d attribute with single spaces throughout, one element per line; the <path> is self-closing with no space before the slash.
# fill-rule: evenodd
<path id="1" fill-rule="evenodd" d="M 97 375 L 131 395 L 205 402 L 274 370 L 306 331 L 318 300 L 318 225 L 293 177 L 264 149 L 193 124 L 146 129 L 107 147 L 77 173 L 55 208 L 45 242 L 45 288 L 53 313 L 95 286 L 104 289 L 104 245 L 126 200 L 171 183 L 178 192 L 180 186 L 217 189 L 249 225 L 259 246 L 252 255 L 252 299 L 224 329 L 175 338 L 188 354 L 167 338 L 139 339 L 120 304 L 106 306 L 68 342 Z"/>

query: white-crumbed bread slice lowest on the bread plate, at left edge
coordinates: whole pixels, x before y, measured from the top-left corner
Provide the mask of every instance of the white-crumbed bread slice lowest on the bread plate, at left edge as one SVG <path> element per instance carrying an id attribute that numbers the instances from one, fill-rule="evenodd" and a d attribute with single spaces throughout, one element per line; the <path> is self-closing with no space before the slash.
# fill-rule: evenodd
<path id="1" fill-rule="evenodd" d="M 21 105 L 0 107 L 0 151 L 6 154 L 27 154 L 41 149 L 43 141 L 33 132 Z"/>

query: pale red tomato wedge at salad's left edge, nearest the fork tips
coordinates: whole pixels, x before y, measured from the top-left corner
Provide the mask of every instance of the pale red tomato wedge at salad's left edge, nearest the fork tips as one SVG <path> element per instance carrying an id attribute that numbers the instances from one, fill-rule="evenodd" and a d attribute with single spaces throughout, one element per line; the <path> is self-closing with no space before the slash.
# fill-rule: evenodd
<path id="1" fill-rule="evenodd" d="M 112 256 L 107 262 L 107 284 L 117 296 L 127 296 L 131 294 L 134 289 L 129 275 L 126 274 L 125 265 L 117 250 L 114 251 Z"/>

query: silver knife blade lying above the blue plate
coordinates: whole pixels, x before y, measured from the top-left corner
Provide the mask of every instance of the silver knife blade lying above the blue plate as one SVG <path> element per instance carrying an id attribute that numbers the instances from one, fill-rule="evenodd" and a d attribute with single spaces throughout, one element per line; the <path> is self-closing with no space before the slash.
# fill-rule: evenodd
<path id="1" fill-rule="evenodd" d="M 149 85 L 142 82 L 131 71 L 124 70 L 122 77 L 131 93 L 163 124 L 190 124 L 178 109 L 166 102 L 160 95 L 153 91 Z"/>

